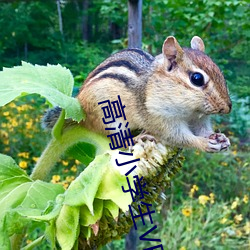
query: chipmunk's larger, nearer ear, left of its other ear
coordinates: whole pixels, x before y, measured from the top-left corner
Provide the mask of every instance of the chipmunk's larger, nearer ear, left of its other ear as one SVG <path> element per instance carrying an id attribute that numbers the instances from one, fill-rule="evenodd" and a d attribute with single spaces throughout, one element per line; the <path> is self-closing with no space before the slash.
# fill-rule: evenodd
<path id="1" fill-rule="evenodd" d="M 169 36 L 162 46 L 162 54 L 170 61 L 179 61 L 182 59 L 183 50 L 175 37 Z"/>

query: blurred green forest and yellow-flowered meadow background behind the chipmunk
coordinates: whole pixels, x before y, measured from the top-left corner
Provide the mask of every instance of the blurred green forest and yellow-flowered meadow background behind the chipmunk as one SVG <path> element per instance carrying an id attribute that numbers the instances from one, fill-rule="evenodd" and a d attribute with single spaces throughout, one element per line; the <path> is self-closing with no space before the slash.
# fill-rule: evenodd
<path id="1" fill-rule="evenodd" d="M 250 245 L 249 14 L 249 1 L 143 1 L 143 49 L 161 53 L 169 35 L 186 47 L 194 35 L 202 37 L 206 53 L 225 75 L 233 100 L 230 115 L 214 118 L 215 128 L 231 139 L 230 151 L 185 151 L 183 170 L 166 191 L 163 204 L 155 205 L 157 237 L 165 249 L 247 249 Z M 77 91 L 95 66 L 127 47 L 127 23 L 125 0 L 0 1 L 0 68 L 20 65 L 22 60 L 59 63 L 73 73 Z M 46 103 L 38 96 L 28 99 L 28 105 L 19 99 L 0 109 L 0 152 L 12 155 L 30 173 L 48 136 L 39 122 Z M 51 181 L 66 187 L 80 168 L 65 158 Z M 124 244 L 123 239 L 106 248 L 124 249 Z M 138 249 L 147 247 L 142 241 L 137 244 Z"/>

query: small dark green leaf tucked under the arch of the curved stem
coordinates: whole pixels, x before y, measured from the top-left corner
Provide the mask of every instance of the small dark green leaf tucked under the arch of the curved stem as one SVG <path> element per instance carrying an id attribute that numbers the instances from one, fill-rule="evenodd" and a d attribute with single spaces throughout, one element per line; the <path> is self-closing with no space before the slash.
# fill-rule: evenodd
<path id="1" fill-rule="evenodd" d="M 74 159 L 77 159 L 83 164 L 88 165 L 95 158 L 96 148 L 92 144 L 79 142 L 70 147 L 66 154 L 73 157 Z"/>

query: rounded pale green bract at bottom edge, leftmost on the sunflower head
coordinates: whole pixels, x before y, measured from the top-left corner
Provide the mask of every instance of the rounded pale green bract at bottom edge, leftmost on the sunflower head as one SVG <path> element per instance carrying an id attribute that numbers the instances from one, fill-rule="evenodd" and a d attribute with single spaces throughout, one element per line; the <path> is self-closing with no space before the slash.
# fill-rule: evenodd
<path id="1" fill-rule="evenodd" d="M 56 220 L 56 238 L 64 250 L 71 250 L 79 234 L 79 207 L 64 205 Z"/>

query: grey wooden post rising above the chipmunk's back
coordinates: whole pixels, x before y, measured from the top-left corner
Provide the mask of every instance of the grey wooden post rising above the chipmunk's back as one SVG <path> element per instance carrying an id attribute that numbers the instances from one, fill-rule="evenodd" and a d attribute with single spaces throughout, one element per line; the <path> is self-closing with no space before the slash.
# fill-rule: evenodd
<path id="1" fill-rule="evenodd" d="M 128 1 L 128 47 L 142 46 L 142 0 Z"/>

